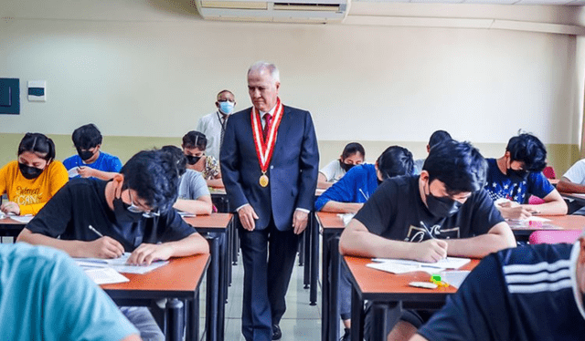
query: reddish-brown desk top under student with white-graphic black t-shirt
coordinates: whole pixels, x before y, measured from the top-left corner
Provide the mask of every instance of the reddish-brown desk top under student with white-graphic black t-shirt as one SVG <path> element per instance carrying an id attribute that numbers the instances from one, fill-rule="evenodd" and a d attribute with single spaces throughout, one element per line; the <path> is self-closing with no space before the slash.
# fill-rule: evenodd
<path id="1" fill-rule="evenodd" d="M 379 301 L 443 301 L 446 294 L 457 291 L 453 286 L 447 288 L 424 289 L 410 286 L 410 282 L 429 282 L 431 275 L 425 272 L 390 274 L 366 266 L 372 263 L 369 258 L 344 256 L 351 272 L 352 282 L 359 287 L 363 299 Z M 459 270 L 472 270 L 479 260 L 473 259 Z"/>

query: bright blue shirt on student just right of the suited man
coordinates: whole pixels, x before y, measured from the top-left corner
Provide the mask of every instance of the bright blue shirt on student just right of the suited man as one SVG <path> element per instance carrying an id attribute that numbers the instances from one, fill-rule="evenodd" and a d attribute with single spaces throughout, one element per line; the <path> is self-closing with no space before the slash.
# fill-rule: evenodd
<path id="1" fill-rule="evenodd" d="M 355 166 L 317 198 L 314 209 L 321 211 L 329 201 L 367 202 L 377 188 L 376 167 L 373 164 Z"/>

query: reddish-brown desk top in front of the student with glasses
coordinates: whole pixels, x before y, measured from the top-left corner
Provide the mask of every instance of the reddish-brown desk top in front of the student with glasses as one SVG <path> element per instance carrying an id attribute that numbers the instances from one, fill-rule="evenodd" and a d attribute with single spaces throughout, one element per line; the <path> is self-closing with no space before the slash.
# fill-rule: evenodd
<path id="1" fill-rule="evenodd" d="M 196 254 L 188 257 L 174 258 L 158 269 L 147 274 L 123 274 L 130 282 L 104 284 L 106 291 L 139 291 L 192 294 L 201 283 L 207 270 L 209 254 Z"/>

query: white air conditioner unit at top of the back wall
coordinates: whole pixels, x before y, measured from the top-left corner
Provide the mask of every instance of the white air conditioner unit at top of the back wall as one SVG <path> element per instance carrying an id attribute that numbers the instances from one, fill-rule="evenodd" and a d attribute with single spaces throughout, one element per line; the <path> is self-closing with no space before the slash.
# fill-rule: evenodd
<path id="1" fill-rule="evenodd" d="M 207 20 L 335 23 L 346 18 L 351 0 L 196 0 L 197 11 Z"/>

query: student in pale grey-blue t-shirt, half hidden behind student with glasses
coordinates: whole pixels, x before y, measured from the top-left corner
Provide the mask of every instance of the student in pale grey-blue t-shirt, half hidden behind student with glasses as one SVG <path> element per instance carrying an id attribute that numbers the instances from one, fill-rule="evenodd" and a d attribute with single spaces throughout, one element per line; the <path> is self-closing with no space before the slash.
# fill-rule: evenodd
<path id="1" fill-rule="evenodd" d="M 168 152 L 175 159 L 179 171 L 179 192 L 173 208 L 191 214 L 211 214 L 213 210 L 211 194 L 201 173 L 186 169 L 186 157 L 180 148 L 165 146 L 161 150 Z"/>

